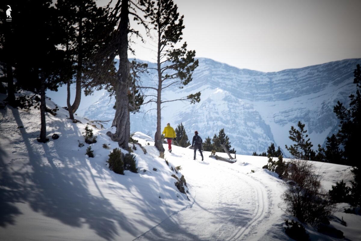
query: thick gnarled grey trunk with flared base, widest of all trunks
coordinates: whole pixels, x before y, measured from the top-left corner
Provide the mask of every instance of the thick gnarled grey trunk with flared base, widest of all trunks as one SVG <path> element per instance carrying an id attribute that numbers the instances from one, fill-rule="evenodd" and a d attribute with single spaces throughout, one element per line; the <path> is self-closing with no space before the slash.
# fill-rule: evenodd
<path id="1" fill-rule="evenodd" d="M 116 86 L 116 112 L 112 126 L 116 126 L 116 133 L 106 134 L 113 140 L 117 141 L 119 147 L 128 149 L 130 138 L 130 113 L 129 113 L 129 61 L 128 61 L 128 24 L 129 24 L 129 1 L 123 0 L 121 14 L 118 26 L 118 53 L 119 68 L 118 81 Z"/>

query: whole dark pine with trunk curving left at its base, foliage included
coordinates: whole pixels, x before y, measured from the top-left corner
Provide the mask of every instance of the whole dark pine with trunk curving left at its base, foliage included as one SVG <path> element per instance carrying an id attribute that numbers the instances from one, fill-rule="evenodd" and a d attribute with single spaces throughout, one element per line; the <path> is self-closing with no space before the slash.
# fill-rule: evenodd
<path id="1" fill-rule="evenodd" d="M 76 73 L 76 91 L 71 110 L 75 113 L 82 95 L 83 72 L 86 62 L 94 51 L 99 49 L 99 38 L 104 38 L 104 24 L 108 22 L 108 10 L 98 8 L 94 0 L 58 0 L 59 22 L 66 31 L 62 46 L 67 47 L 71 68 Z M 101 37 L 100 37 L 101 36 Z"/>

